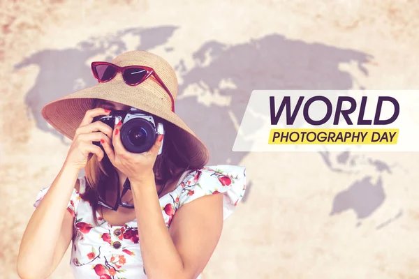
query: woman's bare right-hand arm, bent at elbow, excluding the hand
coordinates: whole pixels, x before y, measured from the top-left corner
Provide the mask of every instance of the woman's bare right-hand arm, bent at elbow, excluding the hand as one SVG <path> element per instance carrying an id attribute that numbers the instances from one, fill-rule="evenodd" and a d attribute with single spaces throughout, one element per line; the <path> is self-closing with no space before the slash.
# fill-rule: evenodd
<path id="1" fill-rule="evenodd" d="M 147 277 L 196 278 L 210 260 L 221 236 L 223 195 L 208 195 L 184 204 L 168 230 L 154 178 L 131 189 Z"/>

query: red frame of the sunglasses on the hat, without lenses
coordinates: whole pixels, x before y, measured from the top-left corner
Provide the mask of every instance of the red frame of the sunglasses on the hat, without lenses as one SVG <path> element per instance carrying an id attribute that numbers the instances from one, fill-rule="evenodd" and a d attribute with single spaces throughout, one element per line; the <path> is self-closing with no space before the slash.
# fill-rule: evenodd
<path id="1" fill-rule="evenodd" d="M 101 79 L 99 79 L 98 76 L 96 75 L 96 70 L 95 70 L 96 66 L 99 66 L 99 65 L 112 66 L 113 68 L 116 69 L 115 70 L 115 74 L 112 75 L 112 77 L 110 77 L 109 80 L 101 80 Z M 126 80 L 124 79 L 124 70 L 129 69 L 129 68 L 140 68 L 142 70 L 146 70 L 147 71 L 147 74 L 144 77 L 142 77 L 142 79 L 140 80 L 140 82 L 135 82 L 134 84 L 131 84 L 131 83 L 126 82 Z M 147 67 L 147 66 L 135 66 L 135 65 L 125 66 L 125 67 L 119 67 L 119 66 L 117 66 L 115 64 L 112 64 L 112 63 L 109 63 L 109 62 L 101 62 L 101 61 L 91 62 L 91 73 L 93 73 L 94 77 L 96 78 L 96 80 L 98 82 L 109 82 L 119 72 L 122 73 L 122 78 L 123 78 L 124 82 L 126 84 L 130 85 L 130 86 L 138 85 L 141 82 L 144 82 L 145 80 L 147 80 L 147 78 L 149 78 L 150 75 L 152 75 L 157 80 L 157 82 L 159 82 L 159 84 L 163 87 L 163 89 L 165 89 L 166 92 L 169 94 L 170 100 L 172 101 L 172 112 L 175 112 L 175 99 L 173 98 L 173 96 L 170 93 L 170 91 L 169 91 L 168 87 L 166 86 L 166 84 L 164 84 L 163 80 L 161 80 L 161 78 L 159 77 L 159 75 L 157 75 L 156 71 L 153 68 L 150 68 L 150 67 Z"/>

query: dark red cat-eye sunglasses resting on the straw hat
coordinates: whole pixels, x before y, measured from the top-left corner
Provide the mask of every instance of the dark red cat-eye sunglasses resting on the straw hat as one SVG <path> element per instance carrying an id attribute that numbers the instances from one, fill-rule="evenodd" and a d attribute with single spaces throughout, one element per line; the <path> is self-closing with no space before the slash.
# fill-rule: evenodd
<path id="1" fill-rule="evenodd" d="M 117 73 L 121 72 L 124 82 L 131 86 L 138 85 L 147 80 L 150 76 L 153 76 L 169 94 L 170 100 L 172 100 L 172 112 L 175 112 L 175 100 L 173 99 L 168 87 L 163 83 L 153 68 L 146 66 L 119 67 L 109 62 L 96 61 L 91 63 L 91 71 L 98 82 L 109 82 L 117 75 Z"/>

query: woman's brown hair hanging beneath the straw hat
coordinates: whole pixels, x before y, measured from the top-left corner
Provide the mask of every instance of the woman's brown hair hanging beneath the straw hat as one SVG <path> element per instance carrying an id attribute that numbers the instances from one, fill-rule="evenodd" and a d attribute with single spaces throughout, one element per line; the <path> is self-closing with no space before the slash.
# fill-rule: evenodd
<path id="1" fill-rule="evenodd" d="M 101 107 L 102 99 L 94 99 L 92 108 Z M 177 127 L 165 119 L 154 116 L 154 119 L 161 121 L 165 129 L 163 149 L 154 163 L 154 176 L 156 184 L 164 184 L 170 179 L 177 178 L 190 167 L 188 158 L 184 153 L 177 149 L 176 144 L 172 141 L 175 136 L 174 132 Z M 87 200 L 93 211 L 93 220 L 98 225 L 96 211 L 98 209 L 98 193 L 103 189 L 117 190 L 119 187 L 119 176 L 115 167 L 110 163 L 108 156 L 103 157 L 101 162 L 98 161 L 96 155 L 91 156 L 84 168 L 86 176 L 86 189 L 81 195 L 82 199 Z"/>

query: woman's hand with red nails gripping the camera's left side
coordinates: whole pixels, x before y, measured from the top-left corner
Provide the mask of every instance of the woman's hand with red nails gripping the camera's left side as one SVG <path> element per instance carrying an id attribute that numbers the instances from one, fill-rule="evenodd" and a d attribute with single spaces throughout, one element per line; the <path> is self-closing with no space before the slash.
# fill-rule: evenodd
<path id="1" fill-rule="evenodd" d="M 93 142 L 100 142 L 101 140 L 108 142 L 112 146 L 113 130 L 102 121 L 95 121 L 92 123 L 94 117 L 99 115 L 108 115 L 110 110 L 104 110 L 101 107 L 96 107 L 92 110 L 87 110 L 84 114 L 82 123 L 79 128 L 75 130 L 73 143 L 66 158 L 66 165 L 71 165 L 78 169 L 86 166 L 89 160 L 89 154 L 96 154 L 99 161 L 103 159 L 105 153 L 101 147 L 93 144 Z M 98 131 L 102 133 L 97 133 Z"/>

